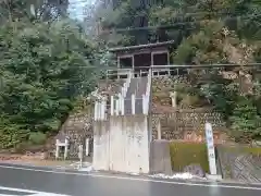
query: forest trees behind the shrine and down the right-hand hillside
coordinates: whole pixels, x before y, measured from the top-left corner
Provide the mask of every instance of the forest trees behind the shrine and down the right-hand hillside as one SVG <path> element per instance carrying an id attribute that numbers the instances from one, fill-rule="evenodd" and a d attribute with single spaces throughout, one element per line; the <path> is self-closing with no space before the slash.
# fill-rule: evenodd
<path id="1" fill-rule="evenodd" d="M 173 64 L 236 64 L 226 70 L 239 81 L 250 79 L 248 89 L 246 82 L 227 79 L 221 69 L 209 66 L 191 71 L 175 90 L 189 95 L 196 106 L 207 99 L 236 142 L 260 139 L 261 1 L 123 0 L 97 10 L 98 40 L 109 46 L 175 40 Z"/>

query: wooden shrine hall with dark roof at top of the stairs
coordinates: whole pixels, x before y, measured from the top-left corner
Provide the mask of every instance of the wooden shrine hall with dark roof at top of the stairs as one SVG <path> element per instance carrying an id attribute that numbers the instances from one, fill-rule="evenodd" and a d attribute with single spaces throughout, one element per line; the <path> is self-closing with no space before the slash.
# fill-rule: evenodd
<path id="1" fill-rule="evenodd" d="M 174 40 L 156 42 L 148 45 L 138 45 L 130 47 L 111 48 L 110 52 L 116 57 L 117 68 L 108 70 L 107 75 L 124 78 L 129 72 L 135 77 L 146 76 L 151 65 L 170 64 L 170 47 Z M 152 70 L 153 76 L 170 75 L 170 69 L 162 68 Z"/>

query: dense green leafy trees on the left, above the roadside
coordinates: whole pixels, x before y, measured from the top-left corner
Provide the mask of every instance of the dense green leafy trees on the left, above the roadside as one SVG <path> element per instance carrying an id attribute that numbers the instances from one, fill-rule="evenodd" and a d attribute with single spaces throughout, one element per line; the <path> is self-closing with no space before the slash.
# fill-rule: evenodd
<path id="1" fill-rule="evenodd" d="M 27 8 L 27 7 L 26 7 Z M 0 26 L 0 148 L 42 144 L 96 85 L 96 46 L 72 20 L 28 20 L 9 8 Z"/>

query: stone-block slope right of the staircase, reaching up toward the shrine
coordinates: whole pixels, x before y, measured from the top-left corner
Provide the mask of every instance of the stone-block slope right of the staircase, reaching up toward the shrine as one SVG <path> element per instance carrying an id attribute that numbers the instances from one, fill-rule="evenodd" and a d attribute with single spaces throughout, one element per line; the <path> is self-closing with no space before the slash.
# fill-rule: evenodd
<path id="1" fill-rule="evenodd" d="M 220 113 L 210 106 L 185 107 L 171 106 L 170 93 L 182 77 L 157 77 L 152 81 L 152 132 L 157 138 L 157 126 L 161 123 L 161 136 L 163 139 L 182 139 L 191 142 L 204 142 L 204 123 L 213 125 L 216 143 L 226 139 L 225 123 Z"/>

